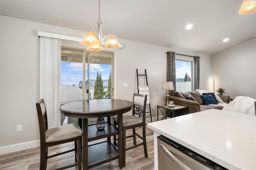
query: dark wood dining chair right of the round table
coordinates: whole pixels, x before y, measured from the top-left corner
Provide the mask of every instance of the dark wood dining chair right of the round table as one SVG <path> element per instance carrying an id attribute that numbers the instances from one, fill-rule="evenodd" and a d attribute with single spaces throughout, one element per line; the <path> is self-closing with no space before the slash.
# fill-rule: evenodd
<path id="1" fill-rule="evenodd" d="M 132 115 L 124 115 L 123 116 L 123 153 L 124 153 L 124 166 L 125 166 L 125 155 L 126 150 L 133 149 L 135 147 L 144 146 L 144 154 L 145 157 L 148 157 L 147 146 L 146 146 L 146 102 L 147 95 L 145 94 L 133 94 L 133 107 L 132 107 Z M 118 125 L 118 117 L 113 117 L 114 125 L 117 127 Z M 136 133 L 136 127 L 142 127 L 142 136 Z M 126 130 L 132 129 L 133 133 L 130 136 L 126 136 Z M 142 139 L 141 143 L 136 142 L 136 136 Z M 126 148 L 126 138 L 133 137 L 133 146 Z M 114 144 L 116 146 L 117 139 L 114 136 Z"/>

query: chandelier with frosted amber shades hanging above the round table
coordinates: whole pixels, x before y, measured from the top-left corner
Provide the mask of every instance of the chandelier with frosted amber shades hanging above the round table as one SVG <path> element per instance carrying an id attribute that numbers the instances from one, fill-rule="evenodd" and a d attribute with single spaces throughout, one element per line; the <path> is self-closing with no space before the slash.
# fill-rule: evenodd
<path id="1" fill-rule="evenodd" d="M 102 44 L 104 43 L 104 39 L 108 37 L 108 40 L 104 43 L 107 49 L 110 48 L 120 48 L 120 45 L 118 41 L 116 40 L 115 35 L 108 34 L 104 38 L 102 38 L 102 27 L 101 27 L 101 19 L 100 19 L 100 0 L 99 0 L 99 19 L 97 22 L 98 25 L 98 37 L 96 34 L 89 29 L 87 33 L 85 33 L 84 38 L 79 42 L 84 45 L 87 45 L 87 49 L 89 51 L 100 51 L 104 48 L 102 47 Z"/>

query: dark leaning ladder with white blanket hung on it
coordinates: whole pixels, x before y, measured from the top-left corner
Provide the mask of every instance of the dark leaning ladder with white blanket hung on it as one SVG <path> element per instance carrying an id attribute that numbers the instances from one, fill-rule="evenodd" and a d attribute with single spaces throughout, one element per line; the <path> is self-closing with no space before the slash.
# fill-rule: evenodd
<path id="1" fill-rule="evenodd" d="M 151 119 L 151 122 L 152 122 L 147 72 L 146 72 L 146 69 L 145 69 L 145 74 L 138 74 L 138 69 L 136 69 L 136 71 L 137 71 L 137 86 L 138 86 L 137 89 L 138 89 L 138 94 L 146 94 L 147 95 L 147 102 L 146 102 L 146 104 L 148 104 L 148 106 L 149 106 L 149 111 L 146 112 L 146 113 L 150 113 L 150 119 Z M 146 77 L 146 86 L 139 86 L 139 76 Z"/>

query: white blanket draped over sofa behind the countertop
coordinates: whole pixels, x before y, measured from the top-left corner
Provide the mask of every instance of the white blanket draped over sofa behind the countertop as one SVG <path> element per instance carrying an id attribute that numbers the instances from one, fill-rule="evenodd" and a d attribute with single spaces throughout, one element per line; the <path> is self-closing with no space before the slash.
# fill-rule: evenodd
<path id="1" fill-rule="evenodd" d="M 237 96 L 232 102 L 224 106 L 222 110 L 255 115 L 254 101 L 256 101 L 256 99 Z"/>

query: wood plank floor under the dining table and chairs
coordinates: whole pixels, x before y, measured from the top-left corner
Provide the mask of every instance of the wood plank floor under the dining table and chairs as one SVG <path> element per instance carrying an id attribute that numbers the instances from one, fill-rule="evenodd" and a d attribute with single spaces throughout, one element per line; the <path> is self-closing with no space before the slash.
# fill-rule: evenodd
<path id="1" fill-rule="evenodd" d="M 142 134 L 142 129 L 137 128 L 136 132 Z M 132 133 L 131 130 L 126 131 L 127 135 Z M 137 138 L 137 143 L 141 139 Z M 154 135 L 153 131 L 146 127 L 146 142 L 148 157 L 145 158 L 143 145 L 126 151 L 126 166 L 122 170 L 154 170 Z M 126 139 L 126 147 L 133 144 L 132 138 Z M 73 148 L 74 143 L 67 143 L 49 148 L 49 155 L 60 152 L 62 148 Z M 48 159 L 47 170 L 73 163 L 74 152 Z M 0 155 L 1 170 L 39 170 L 40 164 L 40 147 L 12 152 Z M 119 170 L 118 160 L 113 160 L 106 164 L 96 166 L 90 170 Z M 68 168 L 68 170 L 78 170 L 78 167 Z"/>

